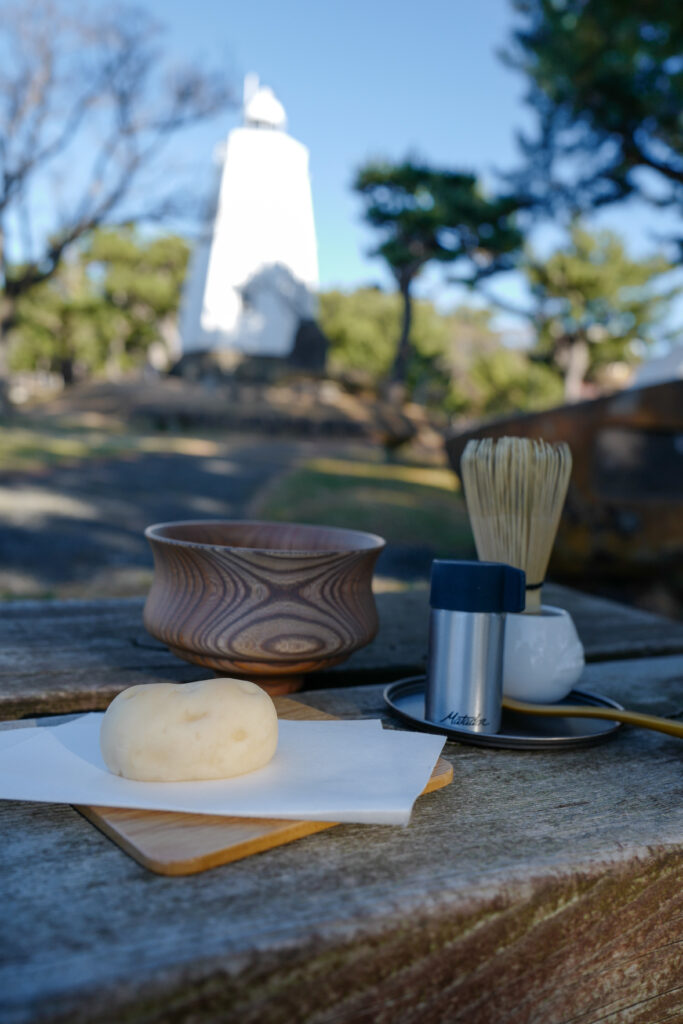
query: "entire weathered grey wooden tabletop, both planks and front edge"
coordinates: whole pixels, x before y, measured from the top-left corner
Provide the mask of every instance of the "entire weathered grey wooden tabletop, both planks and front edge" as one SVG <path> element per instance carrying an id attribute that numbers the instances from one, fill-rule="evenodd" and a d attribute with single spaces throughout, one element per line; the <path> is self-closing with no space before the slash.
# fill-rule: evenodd
<path id="1" fill-rule="evenodd" d="M 683 715 L 683 626 L 549 600 L 574 616 L 586 689 Z M 378 603 L 375 643 L 301 699 L 390 722 L 378 683 L 424 666 L 427 595 Z M 200 678 L 139 613 L 4 607 L 0 718 Z M 628 728 L 565 752 L 447 743 L 455 781 L 409 827 L 339 826 L 186 878 L 150 873 L 68 806 L 1 802 L 0 1021 L 683 1021 L 682 754 Z"/>

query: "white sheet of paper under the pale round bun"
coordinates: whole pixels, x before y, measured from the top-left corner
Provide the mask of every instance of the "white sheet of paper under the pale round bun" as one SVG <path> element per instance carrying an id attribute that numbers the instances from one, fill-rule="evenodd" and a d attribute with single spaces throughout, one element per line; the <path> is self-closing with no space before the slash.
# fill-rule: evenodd
<path id="1" fill-rule="evenodd" d="M 0 731 L 0 799 L 407 824 L 445 741 L 386 730 L 379 720 L 281 720 L 275 756 L 259 771 L 206 782 L 134 782 L 104 766 L 102 717 Z"/>

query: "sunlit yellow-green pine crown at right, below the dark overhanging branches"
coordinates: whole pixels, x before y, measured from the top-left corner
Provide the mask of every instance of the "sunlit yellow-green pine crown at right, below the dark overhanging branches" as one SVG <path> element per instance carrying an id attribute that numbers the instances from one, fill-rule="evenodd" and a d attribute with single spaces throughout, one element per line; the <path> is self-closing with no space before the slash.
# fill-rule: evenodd
<path id="1" fill-rule="evenodd" d="M 569 245 L 525 267 L 537 307 L 538 352 L 566 374 L 571 350 L 583 346 L 584 372 L 634 362 L 634 342 L 648 343 L 678 290 L 653 290 L 671 264 L 663 257 L 632 259 L 612 231 L 592 233 L 574 222 Z"/>

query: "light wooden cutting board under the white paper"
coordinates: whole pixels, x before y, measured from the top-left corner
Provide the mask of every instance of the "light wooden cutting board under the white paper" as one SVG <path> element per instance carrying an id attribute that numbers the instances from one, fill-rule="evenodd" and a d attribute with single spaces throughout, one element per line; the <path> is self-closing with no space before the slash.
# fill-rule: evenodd
<path id="1" fill-rule="evenodd" d="M 280 718 L 334 718 L 289 697 L 275 697 L 274 702 Z M 439 758 L 423 793 L 440 790 L 452 781 L 453 766 Z M 77 810 L 139 864 L 158 874 L 195 874 L 335 827 L 330 821 L 226 818 L 120 807 L 79 806 Z"/>

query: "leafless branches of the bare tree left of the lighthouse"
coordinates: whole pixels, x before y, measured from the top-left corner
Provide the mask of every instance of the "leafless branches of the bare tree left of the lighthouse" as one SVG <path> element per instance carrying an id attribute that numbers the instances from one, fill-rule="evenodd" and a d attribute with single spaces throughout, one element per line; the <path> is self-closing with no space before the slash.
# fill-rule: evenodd
<path id="1" fill-rule="evenodd" d="M 12 5 L 0 23 L 0 274 L 9 305 L 51 276 L 65 253 L 102 223 L 177 211 L 177 188 L 143 198 L 140 176 L 164 145 L 224 110 L 224 77 L 196 69 L 164 74 L 159 28 L 135 8 L 81 10 L 52 0 Z M 99 138 L 93 143 L 93 136 Z M 86 148 L 87 147 L 87 148 Z M 47 176 L 91 153 L 49 237 L 36 245 L 31 204 Z M 81 169 L 81 168 L 79 168 Z M 16 232 L 11 232 L 16 225 Z M 22 233 L 24 238 L 22 238 Z M 24 258 L 17 253 L 24 251 Z M 9 321 L 8 321 L 9 317 Z"/>

